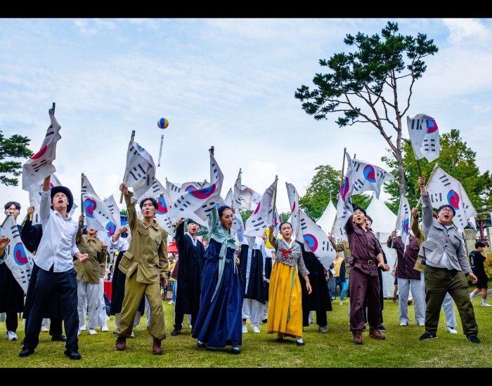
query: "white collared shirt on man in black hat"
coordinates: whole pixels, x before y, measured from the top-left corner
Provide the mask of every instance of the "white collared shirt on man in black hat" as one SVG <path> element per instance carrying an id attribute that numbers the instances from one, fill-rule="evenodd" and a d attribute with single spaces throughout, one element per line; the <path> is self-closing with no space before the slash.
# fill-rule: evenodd
<path id="1" fill-rule="evenodd" d="M 79 252 L 75 244 L 75 235 L 79 225 L 70 215 L 63 218 L 57 211 L 51 210 L 51 191 L 41 191 L 39 209 L 43 237 L 37 248 L 34 262 L 36 265 L 53 272 L 66 272 L 74 267 L 73 256 Z"/>

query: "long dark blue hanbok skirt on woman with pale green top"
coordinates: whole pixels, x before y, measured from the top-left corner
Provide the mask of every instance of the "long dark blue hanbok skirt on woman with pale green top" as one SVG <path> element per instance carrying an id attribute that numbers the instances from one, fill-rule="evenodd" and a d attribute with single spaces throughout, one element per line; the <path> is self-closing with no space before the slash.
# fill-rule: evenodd
<path id="1" fill-rule="evenodd" d="M 219 279 L 220 250 L 221 244 L 211 239 L 205 252 L 200 312 L 193 326 L 193 338 L 207 343 L 208 347 L 226 347 L 232 342 L 242 342 L 244 286 L 239 267 L 235 263 L 235 250 L 232 248 L 227 248 L 221 285 L 212 301 Z"/>

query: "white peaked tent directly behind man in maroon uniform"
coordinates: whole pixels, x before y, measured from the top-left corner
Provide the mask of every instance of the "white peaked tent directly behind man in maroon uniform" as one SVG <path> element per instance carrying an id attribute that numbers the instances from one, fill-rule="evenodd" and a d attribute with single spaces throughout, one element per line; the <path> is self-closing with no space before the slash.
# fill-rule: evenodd
<path id="1" fill-rule="evenodd" d="M 378 200 L 375 197 L 370 201 L 366 212 L 373 219 L 373 231 L 377 234 L 377 239 L 381 243 L 386 260 L 388 260 L 389 271 L 382 273 L 383 296 L 384 298 L 393 298 L 394 278 L 391 276 L 391 271 L 396 262 L 396 251 L 388 248 L 386 242 L 391 232 L 395 229 L 396 215 L 389 210 L 382 200 Z"/>

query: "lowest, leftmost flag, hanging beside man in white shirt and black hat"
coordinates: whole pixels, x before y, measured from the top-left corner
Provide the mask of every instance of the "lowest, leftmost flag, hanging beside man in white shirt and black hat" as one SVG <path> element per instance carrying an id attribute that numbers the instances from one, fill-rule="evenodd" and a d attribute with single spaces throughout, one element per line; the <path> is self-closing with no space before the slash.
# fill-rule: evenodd
<path id="1" fill-rule="evenodd" d="M 27 248 L 22 243 L 13 215 L 8 216 L 4 224 L 4 236 L 11 239 L 11 242 L 5 248 L 6 258 L 4 264 L 11 270 L 13 277 L 22 287 L 22 290 L 27 293 L 34 255 L 27 251 Z"/>

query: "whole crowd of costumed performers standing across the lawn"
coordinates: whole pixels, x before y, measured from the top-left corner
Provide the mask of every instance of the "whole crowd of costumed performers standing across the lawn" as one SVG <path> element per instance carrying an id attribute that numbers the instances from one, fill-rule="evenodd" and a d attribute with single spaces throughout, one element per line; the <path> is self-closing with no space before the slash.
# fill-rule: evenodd
<path id="1" fill-rule="evenodd" d="M 479 343 L 472 297 L 486 293 L 486 277 L 479 272 L 484 246 L 477 243 L 467 259 L 462 234 L 452 225 L 455 211 L 444 205 L 435 213 L 419 178 L 422 197 L 422 227 L 418 211 L 412 211 L 412 234 L 408 246 L 403 245 L 396 232 L 387 246 L 396 249 L 396 277 L 399 284 L 400 325 L 408 326 L 408 304 L 405 299 L 411 288 L 415 300 L 415 320 L 425 326 L 420 340 L 437 338 L 441 306 L 446 314 L 446 328 L 455 330 L 453 300 L 460 313 L 463 333 L 469 342 Z M 155 221 L 157 201 L 144 198 L 139 202 L 142 219 L 137 218 L 136 202 L 122 184 L 127 204 L 128 224 L 111 239 L 119 253 L 112 277 L 111 314 L 115 315 L 117 335 L 115 350 L 125 350 L 127 338 L 147 310 L 148 333 L 153 338 L 153 354 L 162 354 L 162 339 L 166 338 L 160 288 L 167 287 L 169 260 L 167 233 Z M 24 302 L 24 293 L 5 264 L 4 248 L 10 241 L 0 239 L 0 312 L 6 313 L 7 338 L 17 340 L 18 312 L 24 313 L 25 339 L 20 357 L 34 353 L 39 333 L 51 319 L 52 340 L 65 342 L 65 354 L 80 359 L 77 336 L 86 330 L 89 312 L 89 333 L 96 328 L 108 331 L 103 299 L 103 275 L 108 246 L 97 238 L 95 229 L 83 234 L 84 217 L 79 222 L 68 213 L 73 196 L 66 187 L 50 188 L 50 177 L 44 180 L 41 192 L 40 225 L 18 225 L 26 248 L 35 254 L 32 278 Z M 5 213 L 16 220 L 20 205 L 6 204 Z M 28 213 L 34 209 L 29 208 Z M 231 346 L 233 354 L 240 353 L 242 334 L 247 333 L 247 319 L 252 331 L 259 333 L 259 324 L 266 323 L 266 333 L 276 334 L 276 342 L 294 338 L 298 346 L 303 326 L 309 326 L 311 312 L 321 332 L 328 332 L 327 312 L 332 310 L 332 295 L 326 270 L 316 256 L 304 245 L 294 241 L 294 229 L 289 222 L 279 226 L 280 238 L 273 237 L 273 226 L 266 248 L 267 235 L 248 237 L 245 229 L 232 229 L 235 213 L 228 206 L 214 208 L 208 218 L 209 244 L 205 249 L 196 234 L 200 226 L 188 219 L 176 223 L 176 246 L 179 251 L 175 300 L 174 330 L 181 333 L 183 317 L 190 316 L 192 336 L 198 347 Z M 242 221 L 238 221 L 242 224 Z M 348 241 L 336 242 L 330 237 L 335 251 L 344 253 L 336 284 L 343 293 L 349 289 L 349 326 L 354 343 L 363 343 L 368 324 L 368 336 L 384 340 L 382 326 L 382 271 L 388 271 L 380 242 L 371 229 L 372 220 L 360 207 L 354 208 L 345 225 Z M 473 270 L 472 270 L 473 268 Z M 477 276 L 474 274 L 475 271 Z M 477 290 L 468 293 L 465 276 L 477 283 Z M 482 305 L 486 305 L 483 300 Z M 65 335 L 62 331 L 65 326 Z"/>

